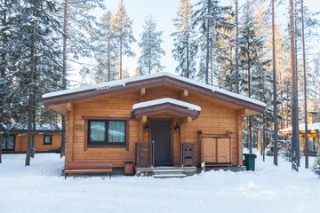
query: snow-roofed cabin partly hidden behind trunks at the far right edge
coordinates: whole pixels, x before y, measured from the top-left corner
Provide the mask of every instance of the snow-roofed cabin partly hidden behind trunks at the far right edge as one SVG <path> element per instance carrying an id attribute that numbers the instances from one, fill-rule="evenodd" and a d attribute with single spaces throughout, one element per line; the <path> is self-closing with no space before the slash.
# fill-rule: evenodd
<path id="1" fill-rule="evenodd" d="M 319 130 L 320 122 L 308 123 L 308 154 L 316 156 L 319 149 Z M 305 123 L 299 125 L 299 138 L 300 138 L 300 151 L 306 152 L 306 137 L 305 137 Z M 279 134 L 291 137 L 292 127 L 288 127 L 284 130 L 279 130 Z"/>

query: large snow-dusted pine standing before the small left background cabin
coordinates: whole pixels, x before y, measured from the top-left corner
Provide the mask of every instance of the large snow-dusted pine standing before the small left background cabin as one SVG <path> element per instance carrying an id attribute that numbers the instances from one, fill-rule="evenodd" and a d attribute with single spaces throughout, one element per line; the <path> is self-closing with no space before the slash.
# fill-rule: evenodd
<path id="1" fill-rule="evenodd" d="M 12 114 L 16 115 L 16 121 L 28 123 L 26 166 L 30 164 L 36 120 L 48 121 L 42 114 L 42 94 L 59 90 L 62 85 L 60 37 L 55 33 L 60 23 L 52 16 L 57 11 L 55 1 L 26 0 L 15 14 L 16 37 L 12 50 L 16 53 L 13 82 L 16 86 Z"/>

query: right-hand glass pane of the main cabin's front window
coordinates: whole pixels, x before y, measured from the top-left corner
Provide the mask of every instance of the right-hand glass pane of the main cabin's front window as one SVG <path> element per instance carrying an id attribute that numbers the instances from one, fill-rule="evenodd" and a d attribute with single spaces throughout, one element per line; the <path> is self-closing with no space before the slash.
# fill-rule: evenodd
<path id="1" fill-rule="evenodd" d="M 108 142 L 124 143 L 125 141 L 125 121 L 108 122 Z"/>

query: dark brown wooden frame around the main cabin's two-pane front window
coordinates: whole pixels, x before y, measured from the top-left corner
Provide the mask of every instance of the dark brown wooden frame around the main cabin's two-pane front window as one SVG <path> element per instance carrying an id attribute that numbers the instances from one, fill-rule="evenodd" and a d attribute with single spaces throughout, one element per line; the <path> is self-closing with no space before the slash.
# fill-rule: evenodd
<path id="1" fill-rule="evenodd" d="M 102 116 L 83 116 L 84 119 L 84 151 L 88 148 L 125 148 L 129 150 L 129 122 L 130 117 L 102 117 Z M 109 121 L 124 121 L 124 142 L 108 142 L 108 122 Z M 90 123 L 91 122 L 106 122 L 106 141 L 91 142 L 90 141 Z"/>

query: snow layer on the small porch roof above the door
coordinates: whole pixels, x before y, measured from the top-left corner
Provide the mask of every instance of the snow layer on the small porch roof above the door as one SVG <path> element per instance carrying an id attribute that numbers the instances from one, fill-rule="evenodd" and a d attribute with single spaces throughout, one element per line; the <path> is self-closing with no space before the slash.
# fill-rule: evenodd
<path id="1" fill-rule="evenodd" d="M 155 100 L 149 100 L 146 102 L 141 102 L 141 103 L 133 105 L 132 110 L 147 107 L 147 106 L 155 106 L 155 105 L 165 104 L 165 103 L 170 103 L 170 104 L 174 104 L 174 105 L 178 105 L 178 106 L 184 106 L 184 107 L 186 107 L 190 110 L 193 110 L 193 111 L 199 111 L 199 112 L 201 111 L 200 106 L 196 106 L 194 104 L 190 104 L 190 103 L 187 103 L 187 102 L 184 102 L 181 100 L 169 99 L 169 98 L 155 99 Z"/>

